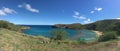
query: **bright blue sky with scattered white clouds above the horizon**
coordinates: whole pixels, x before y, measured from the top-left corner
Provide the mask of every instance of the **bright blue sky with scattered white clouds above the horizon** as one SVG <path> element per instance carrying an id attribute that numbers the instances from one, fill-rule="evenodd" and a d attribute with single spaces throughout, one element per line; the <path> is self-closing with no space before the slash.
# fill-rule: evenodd
<path id="1" fill-rule="evenodd" d="M 0 0 L 0 20 L 14 24 L 88 24 L 120 19 L 120 0 Z"/>

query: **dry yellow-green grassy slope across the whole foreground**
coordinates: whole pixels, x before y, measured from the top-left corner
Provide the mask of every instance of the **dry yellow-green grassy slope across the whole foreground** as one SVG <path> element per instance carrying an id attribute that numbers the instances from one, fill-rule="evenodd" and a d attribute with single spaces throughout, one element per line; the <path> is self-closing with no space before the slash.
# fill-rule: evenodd
<path id="1" fill-rule="evenodd" d="M 43 43 L 46 42 L 46 43 Z M 7 29 L 0 30 L 0 50 L 3 51 L 120 51 L 120 41 L 101 42 L 94 45 L 47 43 L 48 38 L 28 36 Z"/>

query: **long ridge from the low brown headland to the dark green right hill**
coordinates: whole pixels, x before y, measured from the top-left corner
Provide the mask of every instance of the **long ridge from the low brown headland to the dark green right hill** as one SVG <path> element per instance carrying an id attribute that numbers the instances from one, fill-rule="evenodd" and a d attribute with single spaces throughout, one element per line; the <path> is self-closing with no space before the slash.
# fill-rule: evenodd
<path id="1" fill-rule="evenodd" d="M 119 35 L 120 33 L 120 20 L 119 19 L 106 19 L 100 20 L 89 24 L 55 24 L 55 28 L 70 28 L 70 29 L 88 29 L 88 30 L 98 30 L 102 32 L 106 31 L 116 31 Z"/>

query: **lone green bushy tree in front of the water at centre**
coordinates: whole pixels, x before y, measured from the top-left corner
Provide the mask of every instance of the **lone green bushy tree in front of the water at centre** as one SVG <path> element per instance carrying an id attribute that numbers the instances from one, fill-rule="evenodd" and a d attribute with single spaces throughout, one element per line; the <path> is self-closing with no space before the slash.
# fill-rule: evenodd
<path id="1" fill-rule="evenodd" d="M 65 30 L 53 30 L 52 34 L 53 34 L 53 39 L 63 40 L 66 37 L 67 32 Z"/>

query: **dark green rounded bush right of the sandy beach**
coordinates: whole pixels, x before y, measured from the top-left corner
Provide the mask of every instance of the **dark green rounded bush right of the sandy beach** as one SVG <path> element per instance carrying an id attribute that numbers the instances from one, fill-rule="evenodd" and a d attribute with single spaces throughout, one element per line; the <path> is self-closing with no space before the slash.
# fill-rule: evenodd
<path id="1" fill-rule="evenodd" d="M 105 32 L 103 35 L 101 35 L 98 39 L 98 41 L 108 41 L 108 40 L 112 40 L 112 39 L 116 39 L 117 38 L 117 34 L 115 31 L 111 31 L 111 32 Z"/>

